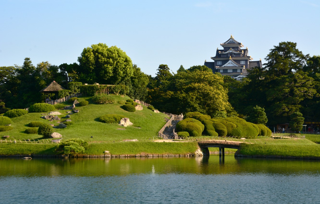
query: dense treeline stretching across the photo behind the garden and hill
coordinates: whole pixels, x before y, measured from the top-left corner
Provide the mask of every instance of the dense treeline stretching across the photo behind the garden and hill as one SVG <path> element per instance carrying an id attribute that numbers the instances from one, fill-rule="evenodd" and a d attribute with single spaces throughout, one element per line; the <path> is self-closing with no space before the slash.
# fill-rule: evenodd
<path id="1" fill-rule="evenodd" d="M 281 42 L 265 58 L 263 68 L 253 68 L 243 81 L 205 66 L 173 73 L 159 65 L 155 77 L 141 72 L 116 46 L 94 44 L 84 48 L 78 64 L 0 67 L 0 112 L 44 102 L 39 90 L 53 80 L 65 88 L 69 82 L 117 85 L 116 93 L 146 100 L 161 111 L 180 114 L 200 112 L 211 117 L 239 116 L 253 123 L 275 125 L 292 121 L 293 115 L 317 121 L 320 112 L 320 56 L 304 55 L 296 43 Z M 267 119 L 268 117 L 268 119 Z M 293 123 L 292 123 L 293 125 Z"/>

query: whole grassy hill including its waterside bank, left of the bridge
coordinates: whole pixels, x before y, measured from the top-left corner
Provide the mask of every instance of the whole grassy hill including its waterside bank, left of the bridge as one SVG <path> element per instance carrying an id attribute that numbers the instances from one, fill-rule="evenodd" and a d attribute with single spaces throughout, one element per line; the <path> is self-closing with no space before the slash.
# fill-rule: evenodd
<path id="1" fill-rule="evenodd" d="M 105 150 L 110 151 L 111 154 L 188 154 L 194 153 L 198 148 L 197 143 L 156 143 L 153 138 L 158 135 L 158 131 L 164 126 L 166 121 L 164 118 L 168 117 L 162 113 L 154 113 L 146 106 L 143 110 L 128 112 L 121 108 L 121 104 L 117 101 L 129 99 L 128 97 L 121 97 L 112 95 L 116 99 L 114 104 L 97 105 L 94 104 L 90 97 L 79 97 L 78 101 L 87 100 L 89 105 L 76 106 L 79 113 L 72 114 L 69 119 L 74 124 L 67 126 L 64 129 L 54 129 L 62 135 L 62 138 L 81 138 L 89 143 L 85 154 L 99 155 L 103 154 Z M 63 102 L 55 105 L 56 111 L 61 120 L 65 121 L 67 118 L 67 111 L 60 110 L 64 106 L 70 106 L 71 103 Z M 9 140 L 16 140 L 14 143 L 0 143 L 0 155 L 13 154 L 56 154 L 54 148 L 56 144 L 50 144 L 48 138 L 44 138 L 38 134 L 26 134 L 24 131 L 28 129 L 28 123 L 32 121 L 40 121 L 47 124 L 54 124 L 58 126 L 58 121 L 49 122 L 49 120 L 42 119 L 43 113 L 28 113 L 16 118 L 12 118 L 13 129 L 6 132 L 0 132 L 0 137 L 8 135 Z M 123 127 L 118 124 L 107 124 L 99 122 L 99 117 L 105 114 L 120 114 L 128 117 L 133 123 L 132 126 Z M 38 141 L 39 143 L 25 143 L 24 141 L 30 139 Z M 127 139 L 138 139 L 139 142 L 123 142 Z M 4 141 L 4 140 L 3 140 Z M 22 143 L 20 143 L 22 141 Z M 48 142 L 48 144 L 46 144 Z"/>

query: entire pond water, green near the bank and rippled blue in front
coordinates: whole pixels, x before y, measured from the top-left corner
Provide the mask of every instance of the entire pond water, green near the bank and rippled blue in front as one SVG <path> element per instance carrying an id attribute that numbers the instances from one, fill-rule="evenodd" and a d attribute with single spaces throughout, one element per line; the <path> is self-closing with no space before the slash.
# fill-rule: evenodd
<path id="1" fill-rule="evenodd" d="M 320 161 L 0 159 L 0 203 L 320 203 Z"/>

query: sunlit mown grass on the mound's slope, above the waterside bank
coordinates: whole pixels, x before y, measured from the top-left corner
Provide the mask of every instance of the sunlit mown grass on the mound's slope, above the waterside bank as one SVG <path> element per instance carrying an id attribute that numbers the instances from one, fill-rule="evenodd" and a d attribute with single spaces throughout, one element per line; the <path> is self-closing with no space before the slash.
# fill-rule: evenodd
<path id="1" fill-rule="evenodd" d="M 118 100 L 126 100 L 128 97 L 121 97 L 113 95 L 113 97 Z M 136 111 L 134 113 L 127 112 L 122 109 L 117 102 L 114 104 L 103 104 L 97 105 L 93 104 L 90 97 L 79 98 L 79 101 L 87 100 L 89 105 L 87 106 L 77 106 L 76 109 L 79 113 L 72 114 L 70 119 L 74 122 L 73 125 L 68 126 L 65 129 L 54 129 L 54 131 L 60 133 L 64 139 L 69 138 L 81 138 L 85 141 L 92 142 L 113 142 L 113 141 L 123 141 L 124 139 L 133 138 L 149 138 L 157 136 L 158 131 L 165 124 L 165 114 L 156 114 L 143 106 L 143 110 Z M 70 106 L 68 102 L 61 103 L 65 106 Z M 63 105 L 60 106 L 62 107 Z M 62 115 L 58 115 L 61 118 L 60 122 L 63 122 L 67 118 L 67 111 L 70 110 L 57 110 Z M 120 114 L 128 117 L 133 123 L 132 126 L 122 127 L 118 124 L 107 124 L 99 122 L 100 116 L 105 114 Z M 59 125 L 56 121 L 49 122 L 41 118 L 41 113 L 29 113 L 22 115 L 20 117 L 12 118 L 13 130 L 7 132 L 0 132 L 0 137 L 4 135 L 9 135 L 10 139 L 23 140 L 23 139 L 43 139 L 42 136 L 37 134 L 25 134 L 24 130 L 28 128 L 27 124 L 31 121 L 40 121 L 47 124 Z M 92 138 L 91 138 L 92 136 Z"/>

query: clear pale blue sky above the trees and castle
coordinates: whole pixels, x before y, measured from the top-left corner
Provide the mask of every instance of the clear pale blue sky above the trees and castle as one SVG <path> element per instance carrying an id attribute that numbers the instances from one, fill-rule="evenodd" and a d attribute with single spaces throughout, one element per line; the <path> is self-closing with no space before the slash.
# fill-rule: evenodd
<path id="1" fill-rule="evenodd" d="M 297 43 L 320 55 L 320 1 L 1 0 L 0 66 L 77 62 L 92 44 L 116 45 L 148 75 L 212 61 L 232 34 L 262 59 L 274 45 Z M 78 62 L 77 62 L 78 63 Z"/>

